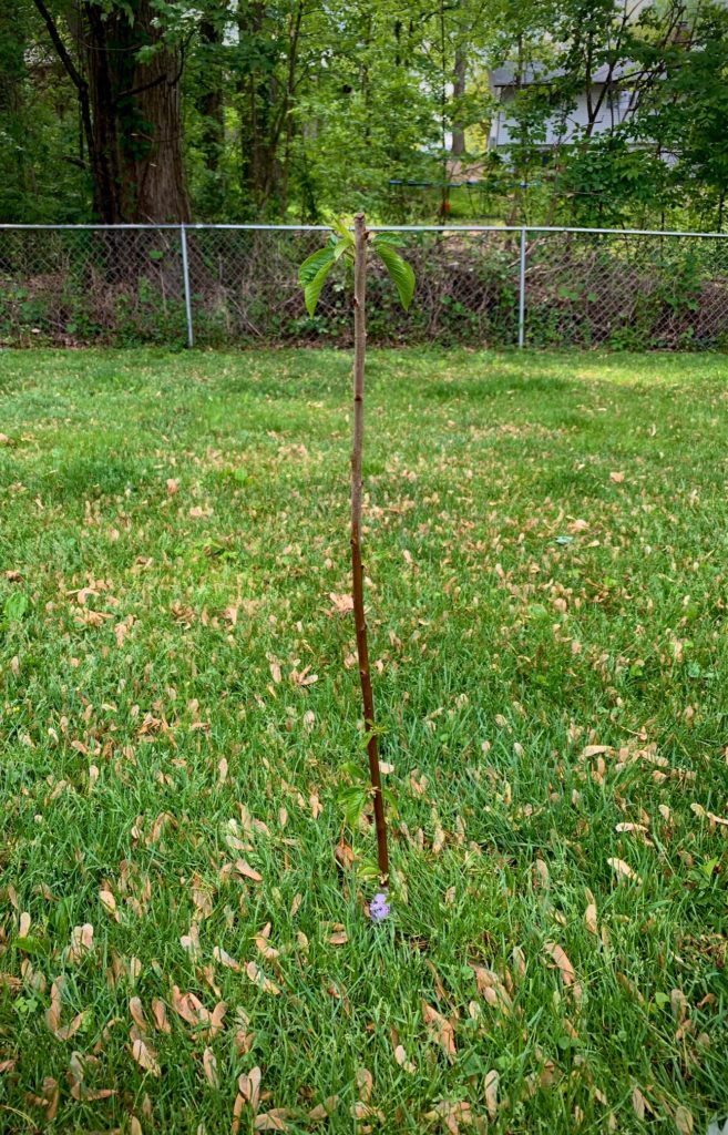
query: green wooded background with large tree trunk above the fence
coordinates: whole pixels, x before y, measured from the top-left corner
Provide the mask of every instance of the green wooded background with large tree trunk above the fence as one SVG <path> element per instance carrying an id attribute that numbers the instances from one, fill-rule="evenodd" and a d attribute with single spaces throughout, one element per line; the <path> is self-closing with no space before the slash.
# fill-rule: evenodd
<path id="1" fill-rule="evenodd" d="M 506 61 L 508 154 L 485 146 Z M 2 0 L 0 220 L 721 230 L 727 77 L 714 2 Z M 620 87 L 633 110 L 599 133 Z M 589 121 L 544 149 L 584 91 Z"/>

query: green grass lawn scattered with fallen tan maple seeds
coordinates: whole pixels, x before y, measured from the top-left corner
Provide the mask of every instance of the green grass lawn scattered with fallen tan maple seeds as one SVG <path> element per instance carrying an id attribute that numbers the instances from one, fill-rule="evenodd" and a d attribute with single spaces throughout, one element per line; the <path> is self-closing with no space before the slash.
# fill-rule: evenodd
<path id="1" fill-rule="evenodd" d="M 728 360 L 369 389 L 381 926 L 348 355 L 0 354 L 2 1132 L 728 1117 Z"/>

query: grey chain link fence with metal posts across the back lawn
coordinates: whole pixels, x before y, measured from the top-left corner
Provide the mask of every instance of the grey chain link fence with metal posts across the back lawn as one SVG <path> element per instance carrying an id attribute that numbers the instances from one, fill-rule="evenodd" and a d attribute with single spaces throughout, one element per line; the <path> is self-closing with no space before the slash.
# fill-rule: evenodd
<path id="1" fill-rule="evenodd" d="M 372 261 L 372 343 L 728 347 L 728 236 L 388 230 L 417 289 L 403 312 Z M 0 226 L 0 344 L 348 345 L 345 269 L 313 319 L 297 284 L 327 238 L 315 226 Z"/>

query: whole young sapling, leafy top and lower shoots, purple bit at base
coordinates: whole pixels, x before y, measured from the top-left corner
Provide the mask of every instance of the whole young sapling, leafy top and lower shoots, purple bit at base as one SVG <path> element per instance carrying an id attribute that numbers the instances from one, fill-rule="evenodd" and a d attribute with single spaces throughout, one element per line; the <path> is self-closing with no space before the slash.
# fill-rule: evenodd
<path id="1" fill-rule="evenodd" d="M 373 238 L 366 230 L 364 213 L 357 213 L 354 233 L 341 222 L 333 225 L 333 233 L 323 249 L 303 262 L 298 270 L 298 281 L 304 291 L 308 314 L 313 317 L 321 289 L 331 269 L 341 259 L 354 264 L 354 442 L 352 447 L 352 599 L 356 625 L 356 651 L 362 684 L 364 707 L 364 740 L 369 756 L 369 781 L 362 777 L 357 765 L 347 764 L 355 784 L 344 794 L 347 821 L 354 825 L 370 798 L 374 808 L 376 830 L 376 861 L 383 893 L 375 897 L 370 906 L 371 917 L 381 922 L 389 914 L 387 882 L 389 880 L 389 852 L 387 847 L 387 817 L 379 765 L 379 740 L 374 718 L 374 695 L 369 663 L 369 641 L 364 611 L 364 565 L 362 562 L 362 460 L 364 453 L 364 371 L 366 362 L 366 274 L 367 251 L 379 255 L 392 280 L 405 311 L 409 308 L 415 291 L 415 275 L 410 266 L 397 252 L 401 244 L 395 234 L 379 233 Z"/>

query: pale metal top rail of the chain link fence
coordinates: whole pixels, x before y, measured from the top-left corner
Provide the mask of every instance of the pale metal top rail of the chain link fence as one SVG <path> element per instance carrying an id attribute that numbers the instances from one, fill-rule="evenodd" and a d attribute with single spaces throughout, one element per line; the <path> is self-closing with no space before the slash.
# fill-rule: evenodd
<path id="1" fill-rule="evenodd" d="M 0 232 L 179 232 L 231 230 L 252 233 L 330 233 L 330 225 L 214 225 L 201 224 L 124 224 L 124 225 L 15 225 L 0 224 Z M 727 241 L 728 233 L 699 233 L 689 229 L 669 228 L 586 228 L 566 225 L 370 225 L 371 233 L 574 233 L 592 236 L 664 236 L 696 237 L 702 239 Z"/>

